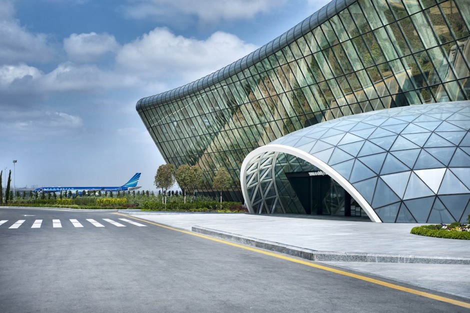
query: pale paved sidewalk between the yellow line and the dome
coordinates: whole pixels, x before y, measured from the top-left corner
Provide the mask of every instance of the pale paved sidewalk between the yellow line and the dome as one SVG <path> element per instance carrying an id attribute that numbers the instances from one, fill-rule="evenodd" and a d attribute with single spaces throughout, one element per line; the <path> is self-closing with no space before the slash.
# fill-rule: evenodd
<path id="1" fill-rule="evenodd" d="M 298 215 L 121 212 L 470 299 L 470 240 L 410 234 L 419 224 Z"/>

